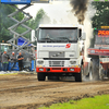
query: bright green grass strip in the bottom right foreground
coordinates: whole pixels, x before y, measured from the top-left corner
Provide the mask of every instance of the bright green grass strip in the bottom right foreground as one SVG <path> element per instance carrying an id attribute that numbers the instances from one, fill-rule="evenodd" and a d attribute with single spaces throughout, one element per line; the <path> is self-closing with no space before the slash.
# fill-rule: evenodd
<path id="1" fill-rule="evenodd" d="M 83 98 L 81 100 L 70 100 L 69 102 L 56 104 L 50 107 L 40 107 L 38 109 L 109 109 L 109 95 Z"/>

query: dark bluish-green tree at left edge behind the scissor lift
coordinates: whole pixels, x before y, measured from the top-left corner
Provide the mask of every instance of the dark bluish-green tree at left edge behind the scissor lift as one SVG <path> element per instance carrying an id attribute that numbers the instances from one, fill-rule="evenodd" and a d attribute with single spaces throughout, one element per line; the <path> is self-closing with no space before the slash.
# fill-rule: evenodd
<path id="1" fill-rule="evenodd" d="M 10 31 L 8 31 L 8 28 L 14 24 L 13 21 L 11 21 L 8 15 L 12 12 L 14 12 L 15 9 L 12 8 L 9 4 L 1 4 L 0 3 L 0 43 L 2 40 L 7 41 L 10 38 L 13 37 L 13 35 L 10 34 Z M 15 16 L 17 20 L 22 20 L 24 17 L 24 15 L 22 13 L 19 13 Z"/>

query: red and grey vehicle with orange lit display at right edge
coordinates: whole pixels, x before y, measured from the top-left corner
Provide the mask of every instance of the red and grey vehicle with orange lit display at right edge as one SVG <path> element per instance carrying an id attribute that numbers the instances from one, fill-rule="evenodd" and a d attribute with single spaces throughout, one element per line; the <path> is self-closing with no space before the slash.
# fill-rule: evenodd
<path id="1" fill-rule="evenodd" d="M 96 31 L 94 48 L 88 48 L 92 80 L 109 78 L 109 28 Z"/>

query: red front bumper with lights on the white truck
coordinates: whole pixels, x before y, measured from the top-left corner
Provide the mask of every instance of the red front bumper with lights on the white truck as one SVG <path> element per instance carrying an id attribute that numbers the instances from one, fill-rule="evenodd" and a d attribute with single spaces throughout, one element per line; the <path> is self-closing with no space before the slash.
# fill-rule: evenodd
<path id="1" fill-rule="evenodd" d="M 46 72 L 46 73 L 80 73 L 81 68 L 36 68 L 36 72 Z"/>

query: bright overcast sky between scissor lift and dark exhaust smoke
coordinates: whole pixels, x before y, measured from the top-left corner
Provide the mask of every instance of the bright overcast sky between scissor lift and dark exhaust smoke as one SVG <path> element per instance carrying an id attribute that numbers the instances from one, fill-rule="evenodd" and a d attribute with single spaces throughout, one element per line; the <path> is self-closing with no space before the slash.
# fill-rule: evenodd
<path id="1" fill-rule="evenodd" d="M 19 8 L 22 8 L 23 5 L 19 5 Z M 51 19 L 56 21 L 68 21 L 69 14 L 71 13 L 71 7 L 69 1 L 55 1 L 51 3 L 35 3 L 34 5 L 26 9 L 26 12 L 29 12 L 29 14 L 35 17 L 36 13 L 39 9 L 44 9 L 46 14 Z M 73 15 L 73 14 L 72 14 Z M 74 15 L 73 15 L 74 16 Z M 75 16 L 74 16 L 75 17 Z"/>

